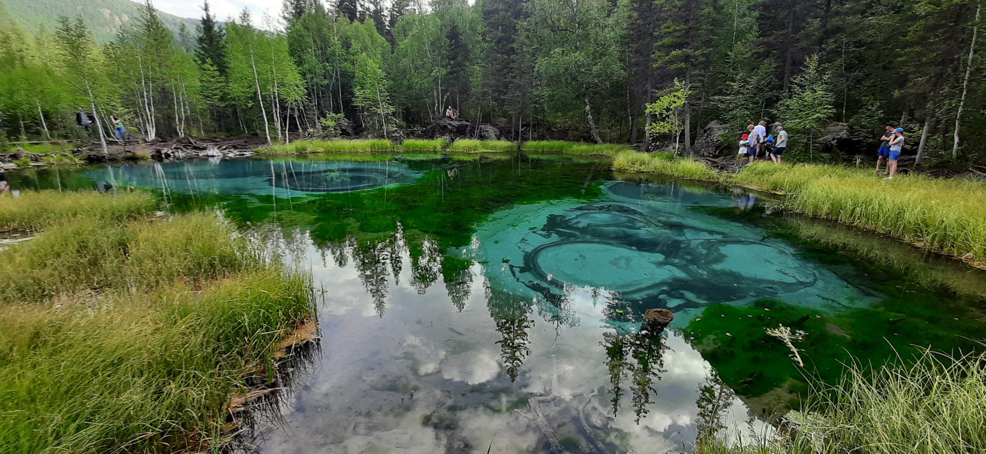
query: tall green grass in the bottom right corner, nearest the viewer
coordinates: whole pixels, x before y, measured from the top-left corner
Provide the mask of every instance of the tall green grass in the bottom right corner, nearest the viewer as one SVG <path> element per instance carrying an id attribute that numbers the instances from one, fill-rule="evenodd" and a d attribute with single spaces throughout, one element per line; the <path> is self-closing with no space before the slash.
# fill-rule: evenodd
<path id="1" fill-rule="evenodd" d="M 733 445 L 700 434 L 698 454 L 959 454 L 986 452 L 986 354 L 926 351 L 909 365 L 850 364 L 840 383 L 810 390 L 788 436 Z"/>

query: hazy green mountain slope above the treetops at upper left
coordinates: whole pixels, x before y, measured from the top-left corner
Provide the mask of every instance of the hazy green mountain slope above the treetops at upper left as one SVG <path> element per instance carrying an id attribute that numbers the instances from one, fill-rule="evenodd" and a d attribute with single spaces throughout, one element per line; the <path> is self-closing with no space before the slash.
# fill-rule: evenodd
<path id="1" fill-rule="evenodd" d="M 98 42 L 113 38 L 120 26 L 132 26 L 138 17 L 140 5 L 130 0 L 0 0 L 7 6 L 10 16 L 21 27 L 35 32 L 41 24 L 49 29 L 56 27 L 58 16 L 82 15 Z M 178 31 L 184 23 L 189 32 L 195 31 L 197 19 L 178 18 L 159 12 L 165 25 Z"/>

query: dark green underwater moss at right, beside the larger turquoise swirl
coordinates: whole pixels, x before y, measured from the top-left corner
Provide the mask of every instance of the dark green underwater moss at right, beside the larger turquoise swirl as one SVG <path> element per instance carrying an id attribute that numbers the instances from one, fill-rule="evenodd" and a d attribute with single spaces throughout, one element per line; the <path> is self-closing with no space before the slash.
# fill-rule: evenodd
<path id="1" fill-rule="evenodd" d="M 796 244 L 803 259 L 820 262 L 851 285 L 884 296 L 870 307 L 847 305 L 833 313 L 771 298 L 705 308 L 682 334 L 740 395 L 760 396 L 776 388 L 804 394 L 812 383 L 837 383 L 845 364 L 853 361 L 877 367 L 888 361 L 913 361 L 922 349 L 947 353 L 983 349 L 976 341 L 982 338 L 983 294 L 958 293 L 915 279 L 906 262 L 885 266 L 851 245 L 836 247 L 817 234 L 805 234 L 798 218 L 764 217 L 763 207 L 690 209 L 764 227 Z M 794 341 L 804 367 L 781 340 L 767 334 L 778 325 L 807 333 L 802 341 Z"/>

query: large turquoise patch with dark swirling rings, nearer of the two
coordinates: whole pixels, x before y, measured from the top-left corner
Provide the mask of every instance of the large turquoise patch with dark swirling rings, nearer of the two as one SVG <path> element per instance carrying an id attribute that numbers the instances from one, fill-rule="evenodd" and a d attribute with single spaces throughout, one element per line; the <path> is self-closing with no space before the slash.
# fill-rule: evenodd
<path id="1" fill-rule="evenodd" d="M 510 266 L 514 278 L 553 302 L 567 288 L 593 287 L 630 306 L 678 311 L 798 292 L 818 279 L 778 244 L 614 202 L 551 215 L 519 246 L 524 264 Z"/>

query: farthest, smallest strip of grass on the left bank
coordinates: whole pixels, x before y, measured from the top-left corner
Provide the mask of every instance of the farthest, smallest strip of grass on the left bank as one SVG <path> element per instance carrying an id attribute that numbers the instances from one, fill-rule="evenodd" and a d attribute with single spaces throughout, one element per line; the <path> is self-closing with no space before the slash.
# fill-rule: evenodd
<path id="1" fill-rule="evenodd" d="M 23 191 L 20 197 L 0 197 L 0 228 L 45 228 L 81 218 L 123 223 L 157 207 L 157 199 L 145 192 Z"/>

